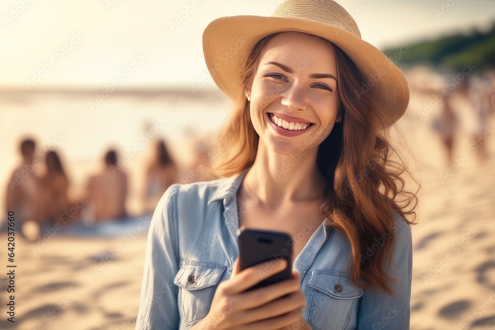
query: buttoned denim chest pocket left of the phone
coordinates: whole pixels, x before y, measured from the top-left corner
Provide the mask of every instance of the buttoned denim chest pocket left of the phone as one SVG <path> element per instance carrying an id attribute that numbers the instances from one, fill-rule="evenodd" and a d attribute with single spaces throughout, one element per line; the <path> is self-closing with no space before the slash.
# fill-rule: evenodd
<path id="1" fill-rule="evenodd" d="M 179 286 L 181 324 L 189 329 L 210 310 L 216 286 L 227 266 L 200 261 L 182 261 L 174 279 Z"/>

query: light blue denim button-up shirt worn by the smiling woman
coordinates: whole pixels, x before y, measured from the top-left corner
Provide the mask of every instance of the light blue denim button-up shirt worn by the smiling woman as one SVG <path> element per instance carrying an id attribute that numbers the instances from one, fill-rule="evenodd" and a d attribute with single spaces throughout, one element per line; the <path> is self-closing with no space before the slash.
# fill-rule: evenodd
<path id="1" fill-rule="evenodd" d="M 216 287 L 230 278 L 239 253 L 236 193 L 247 171 L 174 184 L 163 194 L 149 227 L 136 329 L 190 329 L 206 316 Z M 391 284 L 395 296 L 353 285 L 347 238 L 326 222 L 308 227 L 314 233 L 293 268 L 306 297 L 302 316 L 312 329 L 409 329 L 411 230 L 399 214 L 394 217 L 393 265 L 386 272 L 396 279 Z M 370 246 L 367 254 L 378 246 Z"/>

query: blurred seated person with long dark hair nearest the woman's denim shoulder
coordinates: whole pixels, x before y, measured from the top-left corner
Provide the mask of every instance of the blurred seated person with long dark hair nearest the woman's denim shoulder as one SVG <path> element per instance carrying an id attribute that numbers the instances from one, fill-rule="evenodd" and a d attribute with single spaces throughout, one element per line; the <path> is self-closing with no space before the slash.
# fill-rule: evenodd
<path id="1" fill-rule="evenodd" d="M 151 161 L 146 169 L 143 204 L 145 212 L 152 212 L 170 185 L 179 182 L 177 165 L 168 152 L 164 140 L 155 142 Z"/>

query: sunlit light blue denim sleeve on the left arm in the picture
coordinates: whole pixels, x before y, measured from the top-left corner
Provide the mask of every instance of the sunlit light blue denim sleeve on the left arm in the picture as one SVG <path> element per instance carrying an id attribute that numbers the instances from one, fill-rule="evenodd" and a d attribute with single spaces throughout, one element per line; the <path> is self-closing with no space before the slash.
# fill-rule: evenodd
<path id="1" fill-rule="evenodd" d="M 136 330 L 179 329 L 179 271 L 177 235 L 177 191 L 171 185 L 162 195 L 149 224 L 145 268 Z"/>

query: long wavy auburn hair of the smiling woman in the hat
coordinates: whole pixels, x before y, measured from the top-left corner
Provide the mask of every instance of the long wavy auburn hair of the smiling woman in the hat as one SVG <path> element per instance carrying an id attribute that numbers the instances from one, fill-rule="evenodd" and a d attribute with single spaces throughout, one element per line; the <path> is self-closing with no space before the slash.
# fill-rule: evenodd
<path id="1" fill-rule="evenodd" d="M 259 136 L 251 123 L 245 93 L 250 90 L 263 47 L 276 34 L 261 39 L 245 61 L 244 93 L 239 95 L 237 109 L 220 134 L 216 149 L 220 152 L 211 159 L 211 167 L 219 177 L 238 174 L 254 163 Z M 361 90 L 361 73 L 344 51 L 333 47 L 342 122 L 336 123 L 318 147 L 318 168 L 327 180 L 326 200 L 320 213 L 350 242 L 352 283 L 360 288 L 379 287 L 392 294 L 387 281 L 395 280 L 385 273 L 384 266 L 392 259 L 393 212 L 413 224 L 417 191 L 405 189 L 402 174 L 408 173 L 407 166 L 387 139 L 386 125 L 379 116 L 380 104 L 370 93 L 361 93 L 358 99 L 355 91 Z M 413 219 L 407 220 L 406 216 Z M 381 248 L 368 256 L 367 249 L 377 241 L 383 243 Z M 366 260 L 362 256 L 367 256 Z"/>

